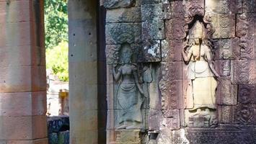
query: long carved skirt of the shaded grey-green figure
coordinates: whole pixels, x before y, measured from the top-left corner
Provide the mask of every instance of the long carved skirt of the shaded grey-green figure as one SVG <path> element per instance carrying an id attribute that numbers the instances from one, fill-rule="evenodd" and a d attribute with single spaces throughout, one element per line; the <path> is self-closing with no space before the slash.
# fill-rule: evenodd
<path id="1" fill-rule="evenodd" d="M 120 84 L 118 89 L 119 123 L 125 121 L 142 122 L 141 94 L 136 84 Z"/>

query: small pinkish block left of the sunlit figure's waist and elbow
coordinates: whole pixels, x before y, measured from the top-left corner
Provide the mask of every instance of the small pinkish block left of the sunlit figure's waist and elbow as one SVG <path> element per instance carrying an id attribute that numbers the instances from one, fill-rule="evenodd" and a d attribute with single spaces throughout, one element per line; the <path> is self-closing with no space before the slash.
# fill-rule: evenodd
<path id="1" fill-rule="evenodd" d="M 174 81 L 182 79 L 182 62 L 162 62 L 162 81 Z"/>

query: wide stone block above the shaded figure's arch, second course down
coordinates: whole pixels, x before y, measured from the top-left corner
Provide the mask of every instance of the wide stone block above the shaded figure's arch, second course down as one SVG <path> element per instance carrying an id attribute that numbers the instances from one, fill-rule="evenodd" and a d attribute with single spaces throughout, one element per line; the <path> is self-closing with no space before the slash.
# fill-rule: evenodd
<path id="1" fill-rule="evenodd" d="M 141 8 L 109 9 L 107 10 L 106 22 L 141 22 Z"/>

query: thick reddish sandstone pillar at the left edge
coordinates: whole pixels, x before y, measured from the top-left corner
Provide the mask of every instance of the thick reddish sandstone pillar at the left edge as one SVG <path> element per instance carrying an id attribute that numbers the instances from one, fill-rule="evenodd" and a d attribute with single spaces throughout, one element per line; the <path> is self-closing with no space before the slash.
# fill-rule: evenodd
<path id="1" fill-rule="evenodd" d="M 43 1 L 0 1 L 0 143 L 48 143 L 43 26 Z"/>

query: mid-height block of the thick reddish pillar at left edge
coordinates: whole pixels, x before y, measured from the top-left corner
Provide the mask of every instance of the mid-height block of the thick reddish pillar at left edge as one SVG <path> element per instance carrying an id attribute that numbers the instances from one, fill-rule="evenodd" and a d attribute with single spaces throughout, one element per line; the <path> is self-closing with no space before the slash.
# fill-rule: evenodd
<path id="1" fill-rule="evenodd" d="M 1 92 L 46 90 L 45 66 L 2 67 L 0 73 Z"/>

